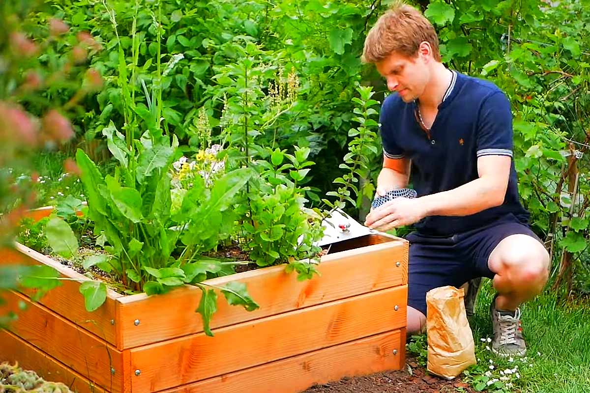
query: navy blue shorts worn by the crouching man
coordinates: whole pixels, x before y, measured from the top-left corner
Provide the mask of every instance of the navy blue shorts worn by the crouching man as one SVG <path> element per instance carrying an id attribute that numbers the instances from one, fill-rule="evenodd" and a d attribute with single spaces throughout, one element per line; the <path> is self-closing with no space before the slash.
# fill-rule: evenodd
<path id="1" fill-rule="evenodd" d="M 512 214 L 487 226 L 453 236 L 409 233 L 408 306 L 426 315 L 426 293 L 440 286 L 459 288 L 477 277 L 494 278 L 487 260 L 496 246 L 510 235 L 529 235 L 541 241 Z"/>

